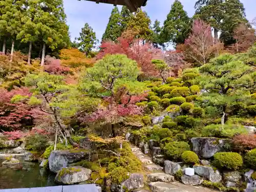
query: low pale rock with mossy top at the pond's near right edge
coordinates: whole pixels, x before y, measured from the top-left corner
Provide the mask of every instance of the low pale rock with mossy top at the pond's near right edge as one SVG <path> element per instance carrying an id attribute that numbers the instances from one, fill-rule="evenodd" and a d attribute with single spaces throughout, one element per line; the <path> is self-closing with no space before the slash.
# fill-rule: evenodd
<path id="1" fill-rule="evenodd" d="M 55 181 L 61 184 L 81 183 L 90 179 L 92 170 L 81 166 L 62 168 L 58 171 Z"/>

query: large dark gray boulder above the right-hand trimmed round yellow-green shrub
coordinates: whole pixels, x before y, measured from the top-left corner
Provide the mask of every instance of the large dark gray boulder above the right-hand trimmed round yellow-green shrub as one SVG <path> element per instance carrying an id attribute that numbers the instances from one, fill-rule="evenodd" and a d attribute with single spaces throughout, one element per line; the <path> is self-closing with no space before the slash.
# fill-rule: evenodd
<path id="1" fill-rule="evenodd" d="M 193 143 L 193 151 L 203 158 L 211 158 L 218 152 L 225 151 L 225 143 L 230 142 L 229 139 L 218 139 L 215 137 L 194 137 L 191 138 Z"/>

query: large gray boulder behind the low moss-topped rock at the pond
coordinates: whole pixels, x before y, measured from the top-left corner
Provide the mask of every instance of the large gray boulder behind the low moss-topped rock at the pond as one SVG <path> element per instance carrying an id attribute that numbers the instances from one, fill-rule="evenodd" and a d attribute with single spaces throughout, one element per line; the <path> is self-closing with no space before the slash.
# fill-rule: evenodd
<path id="1" fill-rule="evenodd" d="M 57 173 L 58 170 L 67 167 L 68 164 L 81 159 L 89 159 L 89 153 L 86 151 L 52 151 L 48 158 L 49 168 L 51 172 Z"/>

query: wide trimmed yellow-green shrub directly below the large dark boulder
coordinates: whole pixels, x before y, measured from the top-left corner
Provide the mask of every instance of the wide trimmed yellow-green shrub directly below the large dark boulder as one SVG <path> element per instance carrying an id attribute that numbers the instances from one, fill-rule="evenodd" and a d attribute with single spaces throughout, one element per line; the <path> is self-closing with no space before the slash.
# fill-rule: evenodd
<path id="1" fill-rule="evenodd" d="M 218 168 L 237 170 L 243 165 L 243 158 L 238 153 L 220 152 L 214 155 L 213 164 Z"/>

